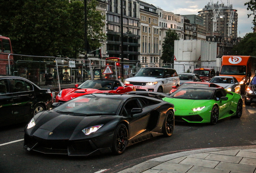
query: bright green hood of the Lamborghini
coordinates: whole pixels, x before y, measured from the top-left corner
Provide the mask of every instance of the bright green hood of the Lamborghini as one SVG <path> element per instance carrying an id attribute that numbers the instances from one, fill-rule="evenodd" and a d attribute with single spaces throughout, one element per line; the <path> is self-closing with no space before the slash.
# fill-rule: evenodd
<path id="1" fill-rule="evenodd" d="M 208 101 L 211 101 L 211 100 L 173 99 L 173 98 L 167 98 L 167 97 L 165 97 L 163 100 L 169 103 L 172 103 L 174 105 L 175 110 L 177 109 L 188 110 L 188 109 L 203 107 L 207 105 Z"/>

